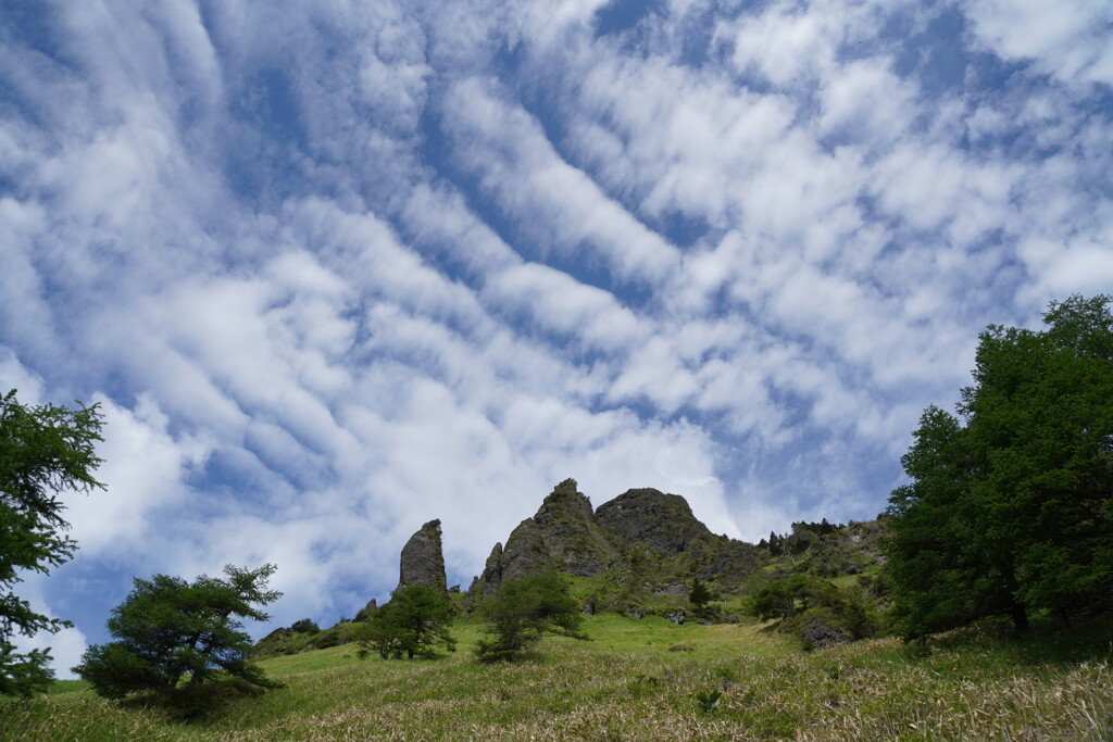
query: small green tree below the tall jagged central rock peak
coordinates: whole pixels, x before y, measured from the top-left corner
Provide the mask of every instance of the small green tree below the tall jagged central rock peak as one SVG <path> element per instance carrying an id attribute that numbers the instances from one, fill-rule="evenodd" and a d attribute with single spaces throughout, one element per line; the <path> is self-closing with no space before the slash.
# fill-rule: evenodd
<path id="1" fill-rule="evenodd" d="M 487 625 L 475 647 L 482 662 L 516 660 L 545 632 L 588 639 L 580 605 L 555 573 L 503 581 L 483 613 Z"/>

